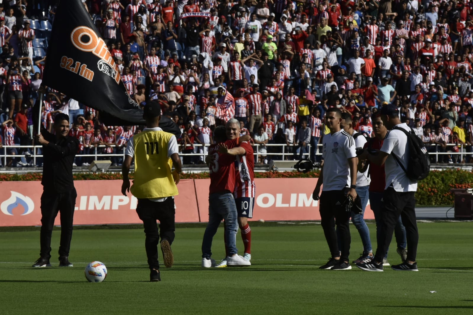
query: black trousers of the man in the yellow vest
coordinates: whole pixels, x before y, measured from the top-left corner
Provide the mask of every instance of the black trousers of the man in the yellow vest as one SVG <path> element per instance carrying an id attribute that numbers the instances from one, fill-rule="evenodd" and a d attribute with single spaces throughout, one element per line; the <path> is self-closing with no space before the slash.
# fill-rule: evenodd
<path id="1" fill-rule="evenodd" d="M 158 243 L 167 239 L 169 244 L 174 241 L 175 231 L 175 210 L 174 198 L 167 197 L 163 202 L 150 201 L 149 199 L 138 199 L 136 207 L 138 217 L 143 221 L 145 228 L 145 249 L 148 256 L 149 269 L 159 269 Z M 159 221 L 159 229 L 156 223 Z"/>

